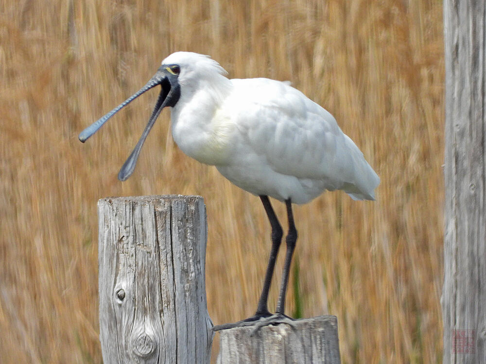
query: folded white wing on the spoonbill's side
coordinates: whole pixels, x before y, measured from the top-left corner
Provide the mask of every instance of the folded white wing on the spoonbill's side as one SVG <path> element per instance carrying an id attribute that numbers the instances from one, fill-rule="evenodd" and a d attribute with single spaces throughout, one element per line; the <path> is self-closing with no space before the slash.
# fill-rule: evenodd
<path id="1" fill-rule="evenodd" d="M 378 176 L 334 117 L 303 93 L 268 79 L 232 82 L 234 122 L 248 147 L 273 170 L 325 180 L 328 189 L 348 193 L 370 195 L 378 185 Z"/>

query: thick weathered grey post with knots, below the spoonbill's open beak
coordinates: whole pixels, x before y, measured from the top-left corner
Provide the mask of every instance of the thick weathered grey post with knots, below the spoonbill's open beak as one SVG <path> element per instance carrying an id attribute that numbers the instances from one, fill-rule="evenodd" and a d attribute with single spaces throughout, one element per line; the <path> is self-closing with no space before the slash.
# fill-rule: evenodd
<path id="1" fill-rule="evenodd" d="M 203 199 L 108 198 L 98 214 L 104 364 L 209 363 Z"/>

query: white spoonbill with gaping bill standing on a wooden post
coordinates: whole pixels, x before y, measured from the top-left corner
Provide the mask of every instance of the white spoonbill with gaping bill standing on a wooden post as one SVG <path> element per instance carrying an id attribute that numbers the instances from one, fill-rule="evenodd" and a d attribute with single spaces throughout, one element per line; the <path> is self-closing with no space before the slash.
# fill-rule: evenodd
<path id="1" fill-rule="evenodd" d="M 226 74 L 206 55 L 175 52 L 137 93 L 79 134 L 85 142 L 122 107 L 160 85 L 152 116 L 121 167 L 119 180 L 133 173 L 147 134 L 162 109 L 170 106 L 172 135 L 179 148 L 201 163 L 216 166 L 229 181 L 260 197 L 270 220 L 272 248 L 256 313 L 214 330 L 289 322 L 284 314 L 285 295 L 297 240 L 292 203 L 309 202 L 325 190 L 373 200 L 380 183 L 334 117 L 290 83 L 265 78 L 229 80 Z M 268 311 L 267 299 L 283 231 L 268 197 L 285 202 L 289 223 L 275 314 Z"/>

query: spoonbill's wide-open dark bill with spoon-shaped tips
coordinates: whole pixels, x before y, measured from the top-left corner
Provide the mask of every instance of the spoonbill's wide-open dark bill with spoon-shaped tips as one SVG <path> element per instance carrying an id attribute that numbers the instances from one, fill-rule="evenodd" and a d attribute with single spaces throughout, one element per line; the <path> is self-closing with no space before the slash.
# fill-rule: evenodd
<path id="1" fill-rule="evenodd" d="M 160 66 L 156 74 L 150 79 L 149 82 L 147 82 L 145 86 L 143 86 L 139 91 L 130 96 L 128 99 L 123 101 L 116 108 L 111 110 L 108 114 L 96 120 L 93 124 L 88 126 L 79 134 L 79 140 L 83 143 L 86 142 L 87 139 L 95 132 L 97 132 L 111 116 L 115 115 L 124 106 L 132 102 L 134 99 L 138 98 L 141 94 L 157 85 L 161 86 L 161 90 L 155 104 L 154 111 L 152 112 L 152 116 L 150 116 L 145 130 L 140 136 L 139 142 L 133 149 L 128 159 L 122 165 L 120 172 L 118 173 L 118 179 L 120 181 L 125 181 L 133 173 L 135 165 L 137 164 L 137 159 L 139 158 L 140 149 L 142 149 L 143 143 L 145 142 L 145 139 L 147 138 L 150 130 L 154 126 L 154 123 L 162 109 L 166 106 L 174 106 L 179 99 L 180 88 L 179 84 L 177 83 L 177 75 L 169 72 L 165 66 Z"/>

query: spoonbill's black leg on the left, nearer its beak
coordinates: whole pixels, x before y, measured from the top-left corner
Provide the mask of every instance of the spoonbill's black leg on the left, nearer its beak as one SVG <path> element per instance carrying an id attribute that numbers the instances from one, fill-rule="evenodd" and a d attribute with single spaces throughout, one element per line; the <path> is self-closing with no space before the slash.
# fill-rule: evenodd
<path id="1" fill-rule="evenodd" d="M 270 204 L 268 196 L 260 196 L 265 212 L 267 213 L 270 226 L 272 227 L 272 249 L 270 250 L 270 258 L 268 259 L 267 271 L 265 273 L 265 280 L 263 281 L 263 288 L 261 290 L 260 300 L 258 301 L 257 316 L 269 316 L 268 312 L 268 291 L 270 290 L 270 284 L 272 282 L 272 276 L 275 268 L 275 261 L 277 260 L 278 248 L 282 241 L 282 227 L 278 222 L 277 215 Z"/>

